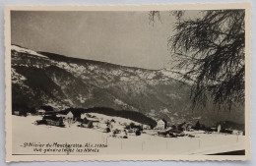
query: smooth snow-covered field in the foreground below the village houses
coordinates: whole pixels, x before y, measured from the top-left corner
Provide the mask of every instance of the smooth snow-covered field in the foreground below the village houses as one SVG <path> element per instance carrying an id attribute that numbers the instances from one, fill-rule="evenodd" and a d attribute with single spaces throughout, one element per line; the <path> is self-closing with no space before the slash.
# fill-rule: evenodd
<path id="1" fill-rule="evenodd" d="M 25 147 L 24 143 L 34 142 L 37 144 L 81 143 L 95 149 L 96 152 L 71 151 L 70 154 L 212 154 L 226 151 L 245 149 L 244 136 L 223 134 L 195 133 L 195 138 L 162 138 L 150 135 L 153 131 L 145 131 L 139 137 L 112 138 L 111 134 L 102 133 L 97 129 L 80 128 L 73 124 L 70 127 L 59 128 L 54 126 L 39 125 L 32 123 L 40 120 L 39 116 L 19 117 L 12 116 L 13 154 L 66 154 L 66 151 L 33 151 L 34 147 Z M 89 144 L 90 143 L 90 144 Z M 86 147 L 88 147 L 86 146 Z M 38 146 L 37 146 L 38 147 Z M 85 147 L 84 147 L 85 148 Z M 83 148 L 83 149 L 84 149 Z M 48 148 L 43 145 L 42 150 Z M 51 147 L 53 149 L 53 147 Z M 82 148 L 81 148 L 82 149 Z"/>

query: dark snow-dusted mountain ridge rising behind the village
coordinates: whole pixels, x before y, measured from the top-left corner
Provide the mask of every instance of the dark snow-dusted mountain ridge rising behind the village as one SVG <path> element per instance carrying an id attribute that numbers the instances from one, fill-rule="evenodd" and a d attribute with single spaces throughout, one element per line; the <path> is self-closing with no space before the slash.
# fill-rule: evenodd
<path id="1" fill-rule="evenodd" d="M 190 85 L 168 69 L 147 70 L 36 52 L 12 45 L 13 103 L 39 108 L 107 107 L 131 110 L 169 124 L 202 120 L 244 123 L 243 109 L 231 114 L 191 110 Z"/>

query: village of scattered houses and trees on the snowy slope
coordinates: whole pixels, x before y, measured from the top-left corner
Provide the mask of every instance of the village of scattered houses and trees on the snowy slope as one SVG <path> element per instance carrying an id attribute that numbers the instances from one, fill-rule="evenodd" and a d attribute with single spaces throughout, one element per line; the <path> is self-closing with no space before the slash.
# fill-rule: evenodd
<path id="1" fill-rule="evenodd" d="M 45 109 L 46 108 L 46 109 Z M 49 111 L 50 110 L 50 111 Z M 14 111 L 17 116 L 38 117 L 33 125 L 55 126 L 60 128 L 88 128 L 101 133 L 107 133 L 112 138 L 139 137 L 141 135 L 151 135 L 163 138 L 188 137 L 195 138 L 196 134 L 228 134 L 244 136 L 244 131 L 236 129 L 226 129 L 224 124 L 217 124 L 215 127 L 206 128 L 198 121 L 196 124 L 181 123 L 168 124 L 164 119 L 159 119 L 156 126 L 138 123 L 126 118 L 111 117 L 98 113 L 74 114 L 72 111 L 55 112 L 47 107 L 42 107 L 35 114 L 22 111 Z"/>

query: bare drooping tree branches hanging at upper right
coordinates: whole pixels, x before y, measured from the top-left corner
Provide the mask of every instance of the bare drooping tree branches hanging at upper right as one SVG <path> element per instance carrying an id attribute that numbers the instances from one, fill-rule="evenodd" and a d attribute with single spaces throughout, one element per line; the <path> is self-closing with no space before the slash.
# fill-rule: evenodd
<path id="1" fill-rule="evenodd" d="M 184 11 L 172 14 L 175 33 L 168 45 L 173 69 L 191 84 L 194 106 L 210 101 L 230 110 L 236 103 L 243 104 L 245 11 L 201 11 L 193 18 L 184 17 Z"/>

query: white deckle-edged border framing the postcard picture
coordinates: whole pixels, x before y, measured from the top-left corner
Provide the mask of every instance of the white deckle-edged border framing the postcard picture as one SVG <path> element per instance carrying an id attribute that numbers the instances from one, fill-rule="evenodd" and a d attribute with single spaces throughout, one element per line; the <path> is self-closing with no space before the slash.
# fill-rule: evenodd
<path id="1" fill-rule="evenodd" d="M 11 26 L 10 11 L 156 11 L 156 10 L 215 10 L 245 9 L 245 131 L 246 154 L 231 155 L 12 155 L 12 119 L 11 106 Z M 8 6 L 5 8 L 5 83 L 6 83 L 6 161 L 120 161 L 120 160 L 248 160 L 250 152 L 250 83 L 251 83 L 251 4 L 241 3 L 207 3 L 207 4 L 173 4 L 173 5 L 105 5 L 105 6 Z"/>

